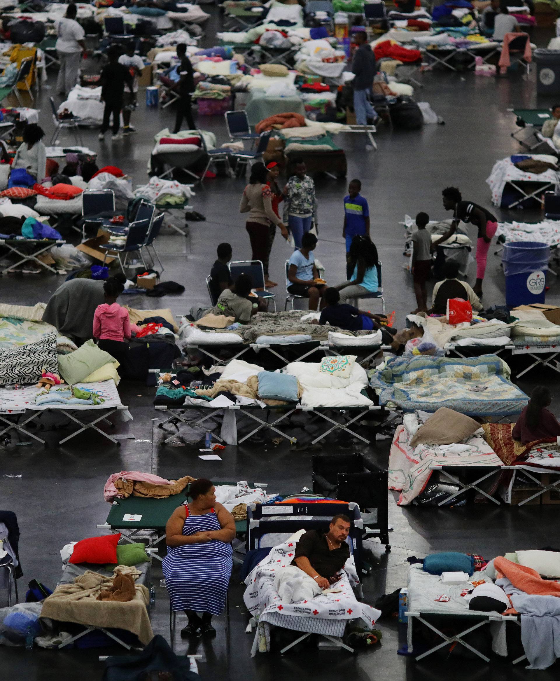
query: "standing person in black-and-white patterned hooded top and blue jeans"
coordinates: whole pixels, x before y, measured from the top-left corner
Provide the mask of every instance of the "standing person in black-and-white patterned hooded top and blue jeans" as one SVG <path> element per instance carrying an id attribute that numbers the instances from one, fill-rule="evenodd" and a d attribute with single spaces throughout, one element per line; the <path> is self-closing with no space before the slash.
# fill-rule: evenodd
<path id="1" fill-rule="evenodd" d="M 311 229 L 311 223 L 317 227 L 317 200 L 315 185 L 303 159 L 295 159 L 295 174 L 284 187 L 284 222 L 293 235 L 295 247 L 301 249 L 301 237 Z"/>

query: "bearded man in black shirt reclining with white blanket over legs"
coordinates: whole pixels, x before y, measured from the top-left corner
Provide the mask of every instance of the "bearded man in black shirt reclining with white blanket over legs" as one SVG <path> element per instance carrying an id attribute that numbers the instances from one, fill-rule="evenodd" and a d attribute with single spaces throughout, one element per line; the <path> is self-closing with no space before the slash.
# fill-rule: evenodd
<path id="1" fill-rule="evenodd" d="M 329 524 L 327 533 L 310 530 L 295 545 L 292 565 L 278 571 L 274 588 L 284 603 L 297 603 L 320 595 L 340 579 L 340 571 L 350 558 L 346 539 L 350 518 L 342 513 Z"/>

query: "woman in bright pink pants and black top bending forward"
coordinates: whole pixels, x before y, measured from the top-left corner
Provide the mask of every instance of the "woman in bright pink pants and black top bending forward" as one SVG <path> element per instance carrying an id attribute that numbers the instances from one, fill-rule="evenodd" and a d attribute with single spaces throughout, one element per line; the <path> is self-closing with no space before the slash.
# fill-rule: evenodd
<path id="1" fill-rule="evenodd" d="M 482 208 L 482 206 L 478 206 L 478 204 L 474 204 L 471 201 L 463 201 L 461 192 L 457 187 L 446 187 L 442 191 L 442 195 L 445 210 L 453 211 L 453 221 L 448 232 L 433 245 L 438 246 L 438 244 L 441 244 L 455 234 L 457 225 L 461 220 L 476 225 L 478 229 L 478 238 L 476 240 L 476 284 L 473 290 L 478 298 L 482 298 L 482 279 L 484 279 L 484 272 L 486 272 L 486 261 L 490 243 L 498 228 L 497 219 L 486 208 Z"/>

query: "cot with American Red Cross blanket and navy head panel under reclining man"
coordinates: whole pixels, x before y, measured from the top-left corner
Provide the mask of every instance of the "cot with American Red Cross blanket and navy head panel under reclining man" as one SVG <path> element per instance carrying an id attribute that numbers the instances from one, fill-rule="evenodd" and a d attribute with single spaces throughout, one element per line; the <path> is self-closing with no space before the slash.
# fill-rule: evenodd
<path id="1" fill-rule="evenodd" d="M 277 547 L 272 548 L 271 553 L 276 552 L 280 559 L 283 558 L 287 562 L 291 560 L 291 543 L 288 542 L 288 539 L 295 531 L 302 529 L 325 531 L 329 526 L 331 518 L 337 513 L 344 513 L 350 517 L 350 534 L 347 541 L 350 548 L 350 556 L 354 559 L 357 569 L 357 573 L 353 575 L 355 586 L 361 592 L 357 574 L 359 574 L 361 569 L 363 520 L 361 519 L 359 507 L 355 503 L 329 503 L 325 501 L 325 503 L 249 504 L 247 506 L 247 549 L 254 550 L 268 546 Z M 285 544 L 285 548 L 283 548 L 283 544 Z M 346 568 L 348 568 L 348 563 Z M 342 642 L 342 636 L 344 635 L 348 620 L 353 619 L 354 617 L 352 616 L 361 616 L 369 620 L 369 626 L 372 626 L 374 618 L 378 617 L 379 614 L 378 611 L 369 605 L 356 601 L 355 597 L 352 597 L 352 607 L 348 607 L 347 610 L 343 610 L 341 613 L 340 607 L 337 609 L 337 605 L 342 603 L 340 599 L 346 600 L 348 598 L 348 595 L 344 598 L 343 594 L 334 595 L 335 598 L 336 596 L 339 597 L 339 601 L 333 601 L 332 605 L 327 604 L 325 606 L 325 603 L 322 602 L 321 605 L 323 607 L 318 605 L 318 603 L 314 606 L 313 601 L 309 604 L 276 605 L 274 601 L 278 599 L 278 595 L 274 596 L 274 593 L 277 593 L 274 591 L 274 570 L 266 575 L 263 574 L 259 566 L 250 573 L 245 583 L 248 585 L 248 589 L 245 592 L 244 600 L 250 612 L 258 615 L 259 627 L 266 622 L 275 627 L 302 632 L 301 636 L 297 637 L 295 641 L 280 650 L 281 654 L 284 654 L 284 652 L 287 652 L 313 633 L 325 637 L 338 648 L 354 652 L 353 648 Z M 350 588 L 351 584 L 348 581 L 348 573 L 343 577 L 342 585 L 343 587 L 348 586 Z M 254 586 L 258 588 L 255 589 Z M 272 588 L 272 592 L 265 596 L 265 592 L 270 588 Z M 263 599 L 267 601 L 266 604 L 261 602 Z M 323 601 L 324 597 L 319 596 L 318 599 Z M 274 603 L 274 606 L 272 603 Z M 267 605 L 267 607 L 263 608 L 263 605 Z M 344 607 L 346 607 L 346 604 Z M 353 607 L 357 612 L 354 612 Z M 258 648 L 259 629 L 257 629 L 254 638 L 251 652 L 253 656 Z"/>

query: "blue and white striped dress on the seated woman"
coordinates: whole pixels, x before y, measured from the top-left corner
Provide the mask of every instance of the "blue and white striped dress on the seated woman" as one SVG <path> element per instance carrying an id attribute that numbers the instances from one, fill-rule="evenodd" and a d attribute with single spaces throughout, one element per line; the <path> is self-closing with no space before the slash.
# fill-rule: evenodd
<path id="1" fill-rule="evenodd" d="M 222 529 L 214 509 L 203 516 L 191 516 L 188 507 L 185 510 L 184 536 Z M 218 539 L 167 548 L 162 568 L 173 609 L 219 615 L 233 567 L 231 554 L 231 544 Z"/>

